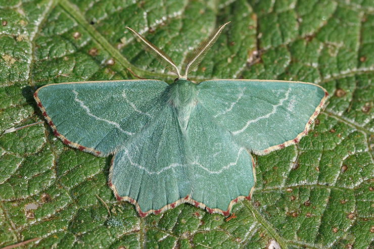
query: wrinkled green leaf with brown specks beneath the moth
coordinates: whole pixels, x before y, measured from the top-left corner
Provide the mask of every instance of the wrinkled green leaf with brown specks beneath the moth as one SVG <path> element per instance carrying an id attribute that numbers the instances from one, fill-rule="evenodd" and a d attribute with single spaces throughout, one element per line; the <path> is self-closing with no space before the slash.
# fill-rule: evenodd
<path id="1" fill-rule="evenodd" d="M 192 80 L 300 80 L 331 95 L 308 136 L 255 158 L 253 198 L 228 221 L 189 204 L 140 218 L 107 185 L 111 157 L 65 146 L 46 123 L 3 134 L 0 247 L 32 238 L 25 247 L 373 247 L 373 9 L 369 0 L 0 0 L 1 133 L 43 121 L 32 94 L 45 84 L 172 82 L 125 26 L 181 69 L 231 21 Z"/>

